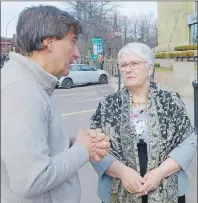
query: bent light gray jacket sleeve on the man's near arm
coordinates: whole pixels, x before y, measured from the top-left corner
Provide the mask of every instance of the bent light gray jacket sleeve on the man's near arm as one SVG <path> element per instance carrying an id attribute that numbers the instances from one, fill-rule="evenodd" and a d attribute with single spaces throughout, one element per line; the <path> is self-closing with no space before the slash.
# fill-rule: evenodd
<path id="1" fill-rule="evenodd" d="M 28 198 L 56 188 L 89 160 L 88 150 L 81 144 L 51 155 L 49 107 L 36 90 L 15 84 L 1 96 L 1 155 L 10 187 L 18 195 Z"/>

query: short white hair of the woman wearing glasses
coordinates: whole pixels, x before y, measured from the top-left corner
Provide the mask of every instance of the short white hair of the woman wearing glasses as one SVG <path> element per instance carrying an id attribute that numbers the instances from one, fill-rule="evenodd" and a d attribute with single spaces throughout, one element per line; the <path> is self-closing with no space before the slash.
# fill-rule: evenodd
<path id="1" fill-rule="evenodd" d="M 134 53 L 141 57 L 143 60 L 147 61 L 147 68 L 151 65 L 154 66 L 155 57 L 153 51 L 143 43 L 132 42 L 125 45 L 118 53 L 118 62 L 122 56 L 122 54 L 130 54 Z"/>

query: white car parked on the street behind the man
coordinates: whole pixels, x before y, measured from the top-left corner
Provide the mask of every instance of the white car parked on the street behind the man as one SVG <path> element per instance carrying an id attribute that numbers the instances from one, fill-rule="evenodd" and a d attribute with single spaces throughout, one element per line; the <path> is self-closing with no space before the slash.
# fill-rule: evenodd
<path id="1" fill-rule="evenodd" d="M 99 70 L 85 64 L 72 64 L 69 75 L 61 77 L 58 81 L 57 87 L 69 89 L 73 85 L 79 84 L 107 84 L 110 81 L 110 78 L 111 76 L 105 70 Z"/>

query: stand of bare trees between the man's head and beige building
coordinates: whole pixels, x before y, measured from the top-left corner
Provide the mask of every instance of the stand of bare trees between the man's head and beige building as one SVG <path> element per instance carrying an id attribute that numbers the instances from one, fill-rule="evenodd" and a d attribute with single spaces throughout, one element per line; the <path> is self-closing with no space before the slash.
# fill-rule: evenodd
<path id="1" fill-rule="evenodd" d="M 79 48 L 89 60 L 93 51 L 93 37 L 102 38 L 105 55 L 113 54 L 114 57 L 121 46 L 129 42 L 141 39 L 141 42 L 151 47 L 157 44 L 157 25 L 151 15 L 134 15 L 130 18 L 118 15 L 118 5 L 112 6 L 107 0 L 69 1 L 69 6 L 70 12 L 82 25 L 83 34 L 79 37 Z M 121 36 L 116 35 L 116 32 L 121 33 Z"/>

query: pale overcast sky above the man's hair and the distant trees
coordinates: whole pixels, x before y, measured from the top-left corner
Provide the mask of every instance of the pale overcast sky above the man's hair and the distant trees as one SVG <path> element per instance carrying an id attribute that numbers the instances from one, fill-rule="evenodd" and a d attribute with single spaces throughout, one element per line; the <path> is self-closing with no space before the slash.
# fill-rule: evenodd
<path id="1" fill-rule="evenodd" d="M 13 20 L 9 23 L 7 27 L 7 37 L 12 37 L 16 33 L 16 24 L 19 13 L 25 8 L 32 5 L 53 5 L 58 8 L 65 7 L 65 4 L 60 1 L 1 1 L 1 36 L 6 36 L 6 26 L 10 20 Z M 134 13 L 153 13 L 157 16 L 157 2 L 143 2 L 143 1 L 126 1 L 126 2 L 113 2 L 113 4 L 119 5 L 119 10 L 122 14 L 131 16 Z"/>

